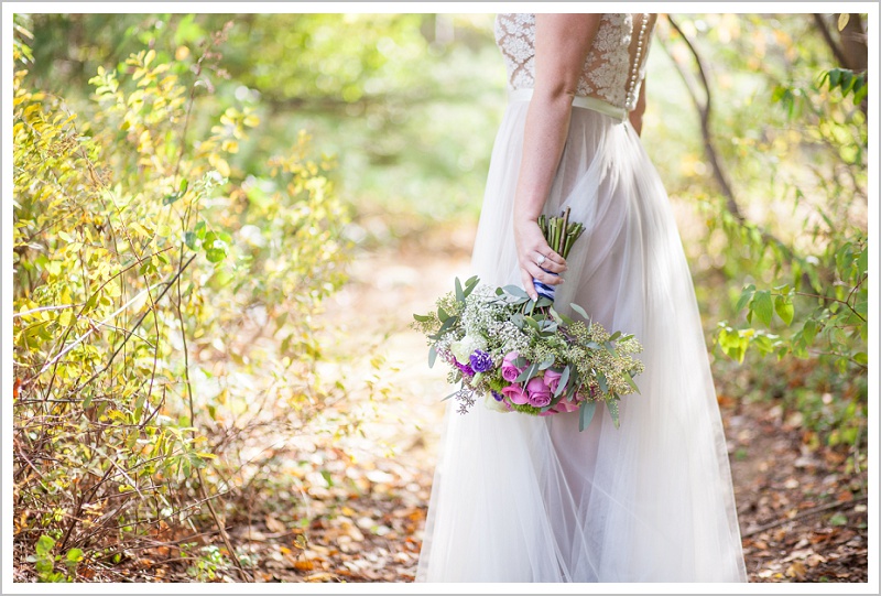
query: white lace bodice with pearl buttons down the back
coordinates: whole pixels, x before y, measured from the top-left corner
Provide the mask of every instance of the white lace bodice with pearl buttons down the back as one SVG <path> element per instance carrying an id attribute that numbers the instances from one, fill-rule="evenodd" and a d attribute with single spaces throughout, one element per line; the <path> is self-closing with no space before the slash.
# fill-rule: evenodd
<path id="1" fill-rule="evenodd" d="M 577 95 L 632 110 L 645 76 L 645 56 L 654 22 L 654 14 L 603 14 L 585 59 Z M 508 87 L 533 88 L 535 14 L 497 15 L 496 43 L 508 66 Z"/>

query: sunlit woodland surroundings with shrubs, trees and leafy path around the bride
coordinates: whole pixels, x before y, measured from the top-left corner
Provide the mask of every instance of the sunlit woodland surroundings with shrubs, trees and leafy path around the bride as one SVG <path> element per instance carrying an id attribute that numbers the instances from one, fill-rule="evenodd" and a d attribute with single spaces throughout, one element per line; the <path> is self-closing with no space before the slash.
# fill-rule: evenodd
<path id="1" fill-rule="evenodd" d="M 15 581 L 413 579 L 448 391 L 407 324 L 468 275 L 492 24 L 15 15 Z M 869 26 L 652 42 L 752 581 L 868 577 Z"/>

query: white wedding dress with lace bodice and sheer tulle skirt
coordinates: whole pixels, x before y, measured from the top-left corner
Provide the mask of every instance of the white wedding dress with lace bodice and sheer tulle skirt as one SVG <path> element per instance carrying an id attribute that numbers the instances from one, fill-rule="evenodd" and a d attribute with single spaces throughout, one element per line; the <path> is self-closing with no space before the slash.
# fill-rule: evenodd
<path id="1" fill-rule="evenodd" d="M 578 414 L 447 410 L 416 579 L 742 582 L 743 555 L 721 419 L 688 266 L 667 195 L 627 120 L 653 15 L 605 14 L 573 102 L 545 205 L 586 230 L 555 306 L 583 306 L 634 334 L 641 394 Z M 512 208 L 531 96 L 535 19 L 500 14 L 510 75 L 472 269 L 520 285 Z M 450 400 L 454 402 L 455 400 Z"/>

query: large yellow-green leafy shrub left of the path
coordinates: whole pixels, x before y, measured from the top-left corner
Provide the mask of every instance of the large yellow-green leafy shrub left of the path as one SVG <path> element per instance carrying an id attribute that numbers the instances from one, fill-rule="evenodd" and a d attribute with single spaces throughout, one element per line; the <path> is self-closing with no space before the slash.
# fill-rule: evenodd
<path id="1" fill-rule="evenodd" d="M 345 279 L 348 214 L 305 133 L 236 165 L 260 119 L 205 93 L 224 32 L 187 64 L 99 68 L 79 116 L 30 88 L 15 25 L 14 533 L 55 581 L 76 575 L 59 556 L 118 561 L 204 505 L 222 520 L 248 433 L 303 427 L 340 390 L 315 375 L 314 316 Z"/>

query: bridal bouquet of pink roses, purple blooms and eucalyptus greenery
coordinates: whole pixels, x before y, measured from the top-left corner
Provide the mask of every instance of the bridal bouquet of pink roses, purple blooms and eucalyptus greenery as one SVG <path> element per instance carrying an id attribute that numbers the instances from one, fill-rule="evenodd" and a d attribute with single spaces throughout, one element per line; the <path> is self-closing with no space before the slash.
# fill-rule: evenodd
<path id="1" fill-rule="evenodd" d="M 567 217 L 543 226 L 561 230 L 551 246 L 561 247 L 564 258 L 574 241 L 568 231 L 580 234 Z M 437 300 L 436 311 L 414 315 L 414 328 L 428 338 L 428 365 L 440 358 L 449 366 L 448 380 L 459 384 L 445 399 L 455 398 L 460 413 L 479 397 L 501 412 L 546 416 L 577 411 L 581 431 L 601 400 L 617 427 L 618 401 L 639 392 L 633 377 L 643 365 L 633 355 L 642 346 L 632 335 L 610 334 L 577 304 L 572 310 L 584 321 L 558 313 L 553 294 L 537 284 L 536 290 L 540 296 L 533 301 L 515 285 L 492 289 L 477 277 L 465 284 L 457 278 L 455 291 Z"/>

